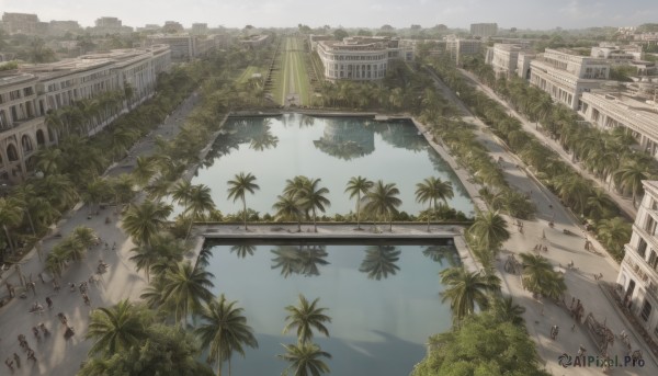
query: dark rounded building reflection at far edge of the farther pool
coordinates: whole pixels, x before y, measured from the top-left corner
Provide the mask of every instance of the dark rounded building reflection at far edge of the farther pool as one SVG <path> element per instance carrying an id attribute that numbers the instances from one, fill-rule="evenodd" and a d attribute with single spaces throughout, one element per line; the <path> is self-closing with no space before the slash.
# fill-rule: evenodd
<path id="1" fill-rule="evenodd" d="M 361 122 L 328 118 L 322 137 L 313 144 L 322 152 L 343 160 L 367 156 L 375 151 L 375 132 Z"/>

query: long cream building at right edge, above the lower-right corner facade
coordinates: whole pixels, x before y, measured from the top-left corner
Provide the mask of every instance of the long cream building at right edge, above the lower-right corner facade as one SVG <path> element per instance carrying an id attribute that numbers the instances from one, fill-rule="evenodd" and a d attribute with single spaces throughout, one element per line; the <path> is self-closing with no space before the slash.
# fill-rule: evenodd
<path id="1" fill-rule="evenodd" d="M 627 128 L 644 150 L 658 158 L 657 93 L 658 86 L 651 82 L 606 84 L 583 92 L 578 112 L 601 128 Z"/>

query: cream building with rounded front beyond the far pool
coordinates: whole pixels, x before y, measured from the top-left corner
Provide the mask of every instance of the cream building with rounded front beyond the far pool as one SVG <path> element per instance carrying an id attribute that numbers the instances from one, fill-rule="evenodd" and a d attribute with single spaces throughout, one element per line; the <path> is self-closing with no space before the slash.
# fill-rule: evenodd
<path id="1" fill-rule="evenodd" d="M 325 78 L 334 80 L 372 81 L 386 77 L 392 59 L 408 58 L 399 39 L 390 37 L 347 37 L 343 41 L 318 41 L 317 52 Z M 410 50 L 409 50 L 410 53 Z"/>

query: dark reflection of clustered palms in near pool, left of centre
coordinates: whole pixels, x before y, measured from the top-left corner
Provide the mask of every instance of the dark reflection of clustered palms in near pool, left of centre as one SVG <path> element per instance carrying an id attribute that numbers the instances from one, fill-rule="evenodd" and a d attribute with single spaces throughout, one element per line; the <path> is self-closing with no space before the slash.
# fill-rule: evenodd
<path id="1" fill-rule="evenodd" d="M 328 255 L 326 246 L 279 246 L 271 250 L 275 255 L 272 259 L 272 269 L 281 269 L 281 275 L 287 278 L 291 275 L 318 276 L 318 266 L 328 265 L 325 260 Z"/>

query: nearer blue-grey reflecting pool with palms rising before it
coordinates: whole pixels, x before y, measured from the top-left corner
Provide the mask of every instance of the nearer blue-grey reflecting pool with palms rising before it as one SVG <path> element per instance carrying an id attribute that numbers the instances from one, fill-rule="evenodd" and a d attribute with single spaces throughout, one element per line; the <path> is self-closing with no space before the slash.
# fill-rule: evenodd
<path id="1" fill-rule="evenodd" d="M 332 375 L 402 376 L 426 354 L 428 337 L 451 324 L 439 272 L 457 265 L 453 246 L 207 246 L 216 294 L 238 300 L 259 349 L 235 355 L 235 375 L 281 375 L 276 357 L 286 311 L 298 294 L 329 310 L 330 338 L 314 337 L 332 355 Z"/>

